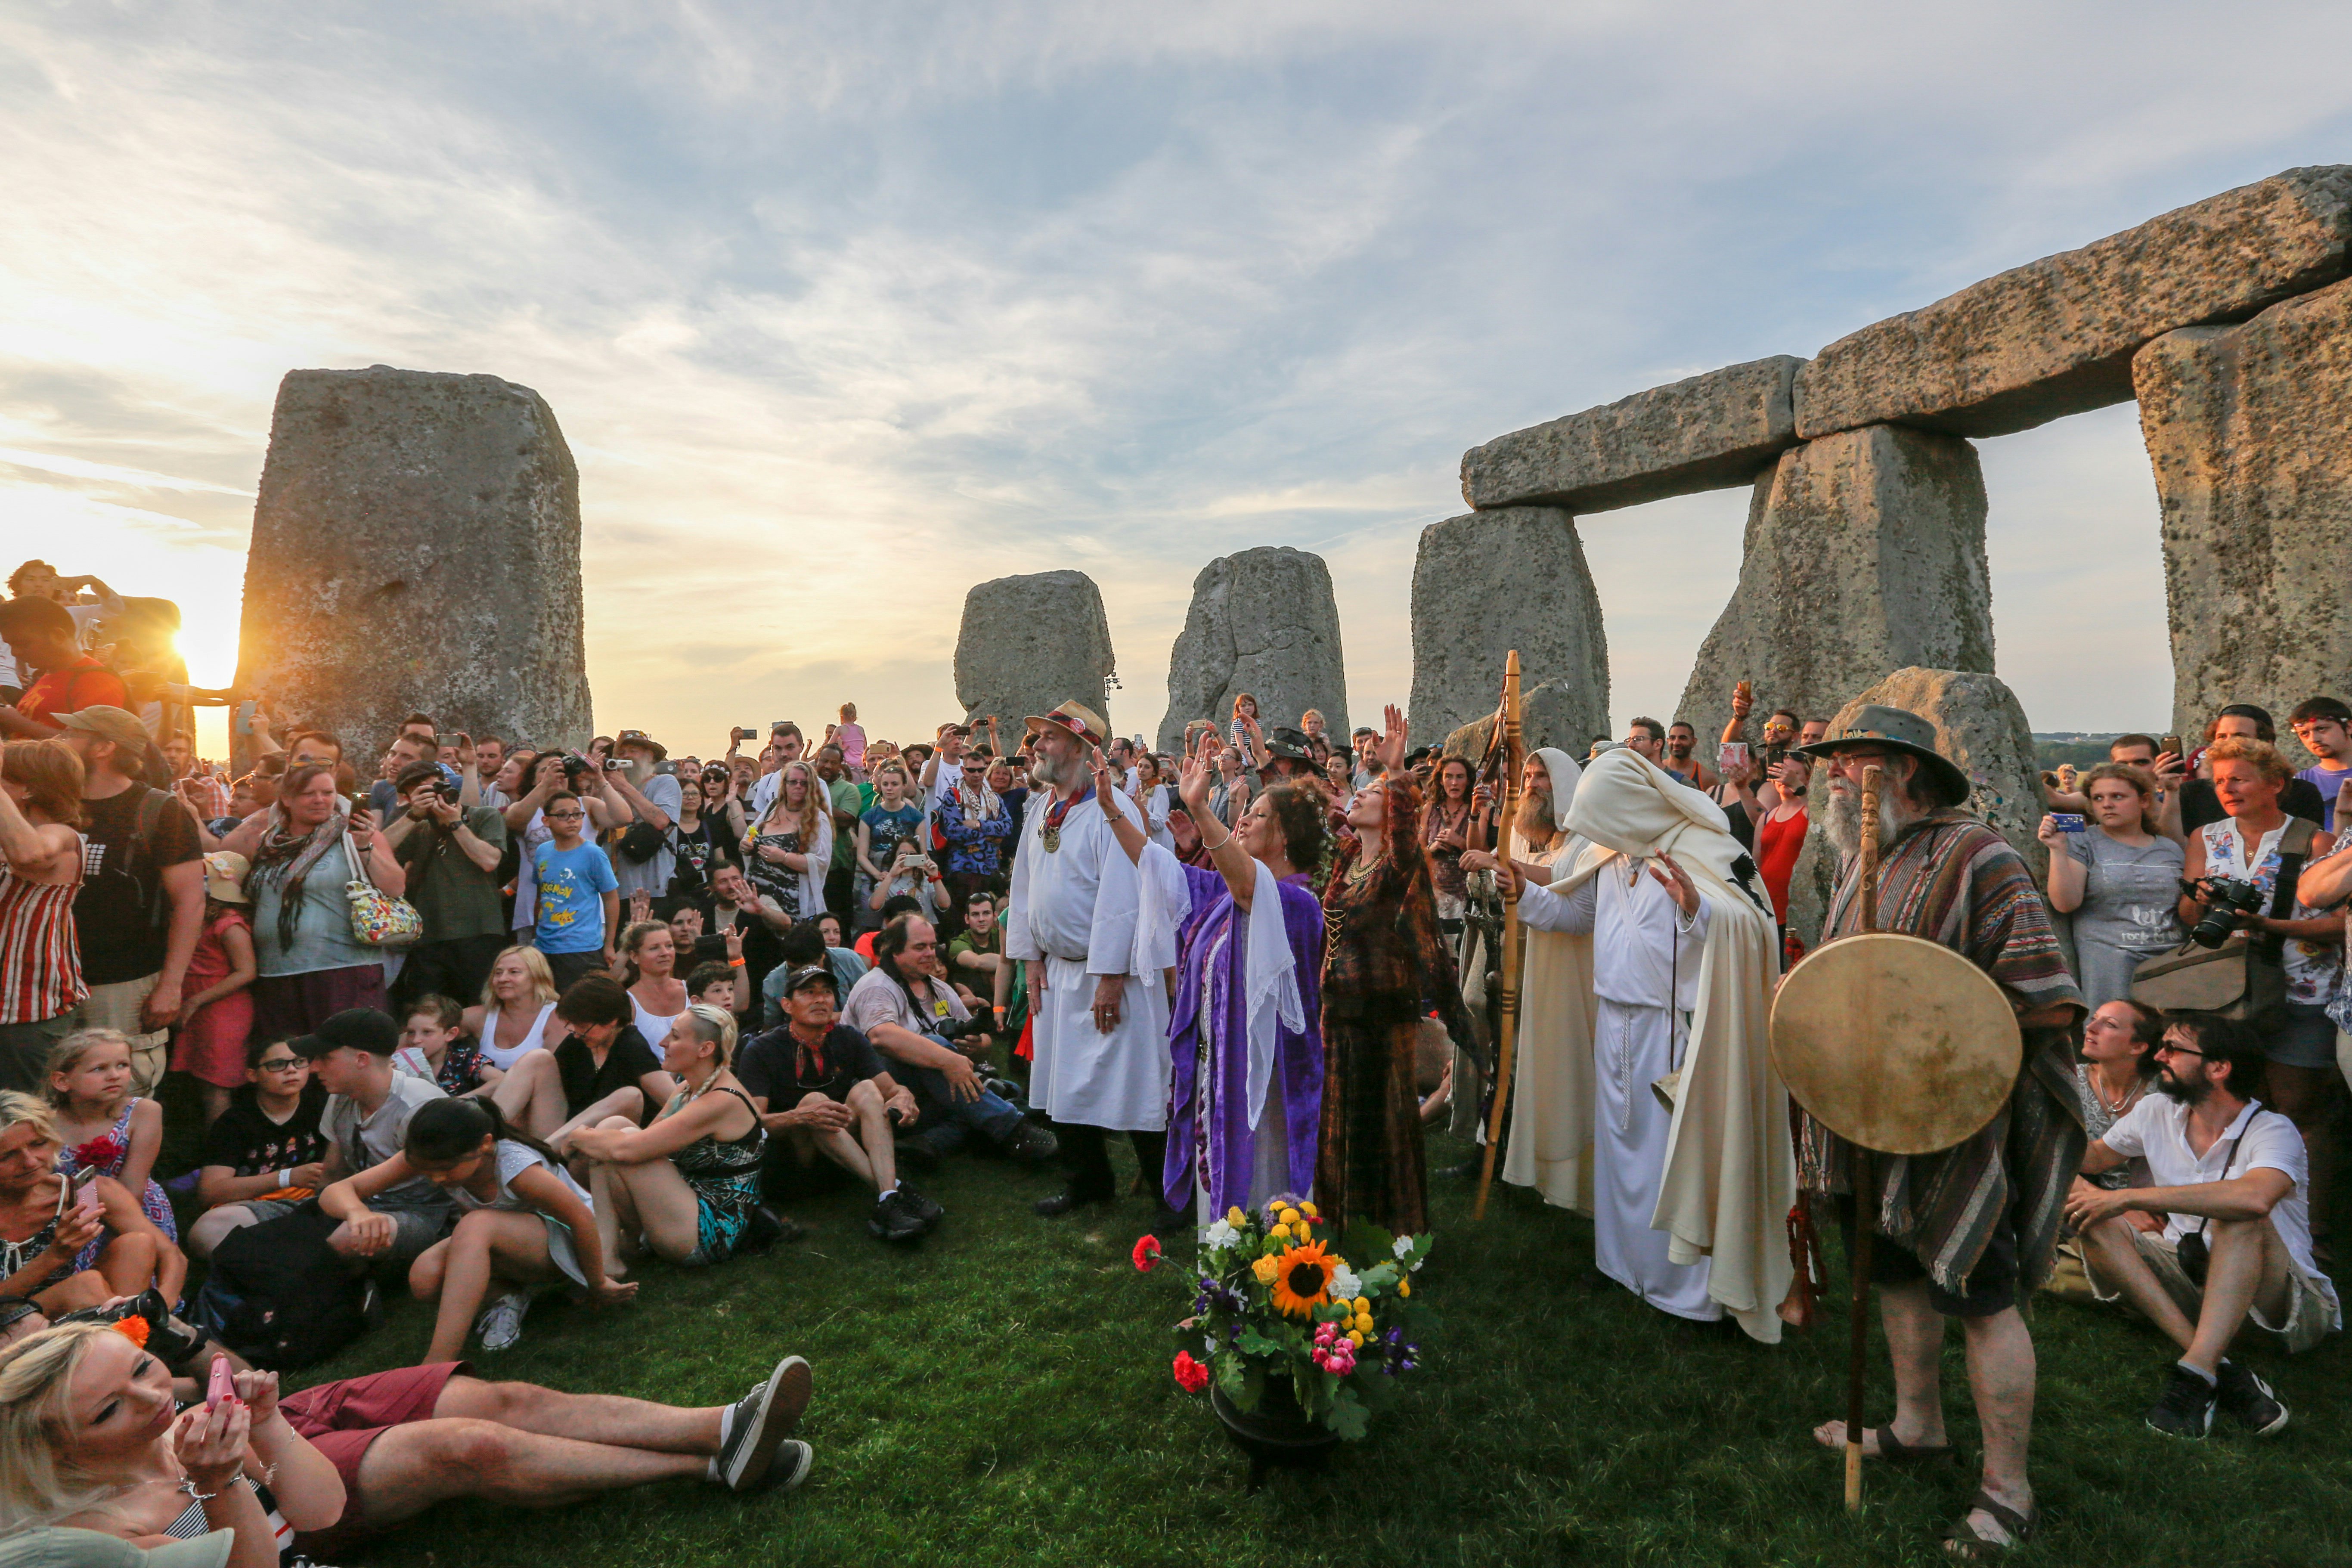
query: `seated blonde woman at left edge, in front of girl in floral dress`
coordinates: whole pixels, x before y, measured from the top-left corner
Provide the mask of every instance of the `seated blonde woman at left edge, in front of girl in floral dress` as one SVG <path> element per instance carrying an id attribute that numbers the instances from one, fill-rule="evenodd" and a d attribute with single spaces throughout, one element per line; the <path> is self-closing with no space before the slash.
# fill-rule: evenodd
<path id="1" fill-rule="evenodd" d="M 139 1295 L 165 1255 L 186 1272 L 188 1260 L 148 1225 L 122 1182 L 89 1178 L 89 1208 L 56 1157 L 49 1105 L 0 1091 L 0 1295 L 24 1295 L 42 1312 L 80 1312 L 111 1295 Z"/>

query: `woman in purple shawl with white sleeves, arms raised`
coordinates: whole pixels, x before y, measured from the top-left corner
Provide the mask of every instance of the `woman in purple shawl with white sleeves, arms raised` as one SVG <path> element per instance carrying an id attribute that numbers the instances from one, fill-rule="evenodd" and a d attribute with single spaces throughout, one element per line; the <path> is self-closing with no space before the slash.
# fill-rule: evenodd
<path id="1" fill-rule="evenodd" d="M 1169 1020 L 1169 1208 L 1197 1222 L 1282 1194 L 1310 1197 L 1322 1124 L 1324 914 L 1312 875 L 1327 802 L 1275 785 L 1225 832 L 1209 811 L 1216 736 L 1185 757 L 1178 795 L 1216 870 L 1181 865 L 1115 816 L 1141 870 L 1136 969 L 1176 969 Z M 1096 790 L 1112 790 L 1108 769 Z M 1282 919 L 1265 914 L 1279 910 Z"/>

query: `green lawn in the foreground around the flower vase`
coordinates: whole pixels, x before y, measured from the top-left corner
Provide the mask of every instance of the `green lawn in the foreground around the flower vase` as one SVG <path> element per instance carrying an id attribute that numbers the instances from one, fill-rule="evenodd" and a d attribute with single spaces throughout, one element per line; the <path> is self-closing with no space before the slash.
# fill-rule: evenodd
<path id="1" fill-rule="evenodd" d="M 1463 1159 L 1439 1143 L 1437 1164 Z M 691 1563 L 1933 1563 L 1973 1469 L 1889 1476 L 1849 1519 L 1839 1458 L 1809 1427 L 1842 1413 L 1844 1319 L 1776 1349 L 1693 1340 L 1616 1286 L 1581 1284 L 1590 1227 L 1515 1190 L 1470 1225 L 1439 1182 L 1423 1288 L 1446 1316 L 1428 1371 L 1327 1474 L 1247 1460 L 1204 1396 L 1169 1378 L 1190 1309 L 1171 1265 L 1136 1274 L 1143 1201 L 1047 1222 L 1044 1175 L 955 1161 L 924 1182 L 948 1220 L 917 1251 L 866 1237 L 863 1206 L 804 1206 L 811 1234 L 720 1269 L 659 1265 L 635 1307 L 541 1305 L 482 1371 L 680 1403 L 739 1396 L 786 1354 L 816 1366 L 809 1483 L 736 1500 L 659 1486 L 557 1514 L 445 1509 L 369 1563 L 652 1568 Z M 1835 1248 L 1832 1248 L 1835 1251 Z M 1190 1244 L 1178 1244 L 1188 1255 Z M 1832 1258 L 1835 1265 L 1835 1258 Z M 1842 1288 L 1842 1286 L 1839 1286 Z M 315 1378 L 419 1356 L 428 1309 Z M 2286 1366 L 2267 1443 L 2166 1441 L 2140 1425 L 2166 1347 L 2124 1319 L 2044 1302 L 2034 1319 L 2044 1530 L 2027 1561 L 2352 1563 L 2340 1342 Z M 1973 1460 L 1957 1333 L 1955 1439 Z M 1884 1352 L 1872 1363 L 1884 1415 Z"/>

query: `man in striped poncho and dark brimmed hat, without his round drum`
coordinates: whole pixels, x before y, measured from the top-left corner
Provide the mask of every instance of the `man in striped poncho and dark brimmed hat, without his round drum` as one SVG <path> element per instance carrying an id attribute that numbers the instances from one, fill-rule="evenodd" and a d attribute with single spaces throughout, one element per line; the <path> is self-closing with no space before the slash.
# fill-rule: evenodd
<path id="1" fill-rule="evenodd" d="M 1865 1204 L 1896 1413 L 1863 1434 L 1863 1453 L 1889 1462 L 1950 1453 L 1938 1347 L 1945 1319 L 1957 1316 L 1985 1432 L 1985 1467 L 1952 1542 L 1966 1552 L 1999 1552 L 2032 1530 L 2025 1448 L 2034 1418 L 2034 1345 L 2018 1302 L 2049 1276 L 2067 1185 L 2082 1164 L 2067 1044 L 2082 994 L 2025 860 L 1999 832 L 1959 811 L 1969 776 L 1936 750 L 1933 724 L 1900 708 L 1867 705 L 1797 755 L 1830 769 L 1825 832 L 1837 846 L 1839 872 L 1823 943 L 1863 929 L 1860 785 L 1863 769 L 1877 766 L 1877 929 L 1966 957 L 2002 987 L 2025 1034 L 2025 1070 L 2009 1105 L 1940 1154 L 1872 1157 Z M 1806 1117 L 1797 1164 L 1806 1192 L 1846 1194 L 1842 1206 L 1851 1215 L 1851 1145 Z M 1813 1436 L 1842 1448 L 1846 1422 L 1823 1422 Z"/>

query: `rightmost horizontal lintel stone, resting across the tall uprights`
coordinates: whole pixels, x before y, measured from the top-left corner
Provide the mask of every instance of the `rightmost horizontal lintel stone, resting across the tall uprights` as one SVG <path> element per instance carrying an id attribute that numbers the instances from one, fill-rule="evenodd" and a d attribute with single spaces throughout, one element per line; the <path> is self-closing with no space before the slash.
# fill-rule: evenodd
<path id="1" fill-rule="evenodd" d="M 2143 343 L 2336 282 L 2347 247 L 2347 167 L 2223 190 L 1830 343 L 1797 374 L 1797 433 L 2009 435 L 2124 402 Z"/>

